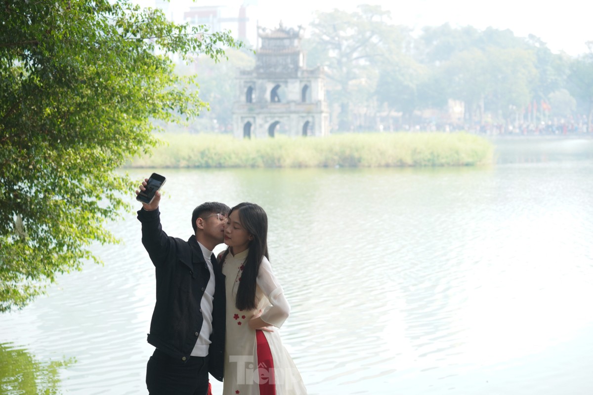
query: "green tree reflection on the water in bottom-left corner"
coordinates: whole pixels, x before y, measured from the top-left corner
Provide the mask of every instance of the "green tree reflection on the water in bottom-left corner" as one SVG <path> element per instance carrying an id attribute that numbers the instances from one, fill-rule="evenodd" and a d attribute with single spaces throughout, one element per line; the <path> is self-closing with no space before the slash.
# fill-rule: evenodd
<path id="1" fill-rule="evenodd" d="M 26 349 L 0 343 L 0 391 L 5 395 L 60 393 L 58 370 L 74 362 L 74 358 L 40 362 Z"/>

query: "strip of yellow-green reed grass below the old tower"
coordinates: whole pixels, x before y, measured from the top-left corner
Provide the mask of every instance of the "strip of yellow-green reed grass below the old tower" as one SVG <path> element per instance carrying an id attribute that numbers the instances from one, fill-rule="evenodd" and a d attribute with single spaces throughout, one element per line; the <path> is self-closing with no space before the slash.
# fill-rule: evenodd
<path id="1" fill-rule="evenodd" d="M 493 144 L 467 133 L 349 133 L 240 140 L 216 134 L 161 134 L 165 144 L 131 168 L 314 168 L 476 166 Z"/>

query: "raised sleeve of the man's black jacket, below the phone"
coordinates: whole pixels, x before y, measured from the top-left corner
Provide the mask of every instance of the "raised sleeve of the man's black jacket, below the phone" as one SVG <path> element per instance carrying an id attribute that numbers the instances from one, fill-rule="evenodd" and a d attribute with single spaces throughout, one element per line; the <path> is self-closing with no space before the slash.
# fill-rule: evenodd
<path id="1" fill-rule="evenodd" d="M 142 245 L 155 266 L 171 261 L 176 244 L 173 237 L 167 236 L 162 230 L 160 210 L 138 210 L 138 220 L 142 223 Z"/>

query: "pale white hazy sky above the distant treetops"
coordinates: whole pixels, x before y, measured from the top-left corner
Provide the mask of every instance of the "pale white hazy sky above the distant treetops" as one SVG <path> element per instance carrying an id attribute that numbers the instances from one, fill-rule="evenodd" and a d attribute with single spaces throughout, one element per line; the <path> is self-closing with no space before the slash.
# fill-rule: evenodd
<path id="1" fill-rule="evenodd" d="M 155 0 L 137 0 L 142 5 L 154 6 Z M 242 3 L 253 7 L 251 15 L 260 25 L 275 27 L 280 20 L 288 27 L 307 25 L 315 10 L 331 11 L 333 8 L 352 11 L 360 0 L 171 0 L 170 8 L 183 12 L 192 5 L 225 5 L 237 8 Z M 362 2 L 363 4 L 365 2 Z M 593 1 L 563 0 L 498 0 L 492 2 L 469 0 L 407 0 L 371 1 L 366 4 L 381 5 L 391 11 L 395 24 L 410 27 L 441 25 L 471 25 L 483 30 L 492 26 L 510 29 L 515 36 L 535 34 L 554 52 L 560 50 L 576 55 L 586 52 L 586 41 L 593 41 Z"/>

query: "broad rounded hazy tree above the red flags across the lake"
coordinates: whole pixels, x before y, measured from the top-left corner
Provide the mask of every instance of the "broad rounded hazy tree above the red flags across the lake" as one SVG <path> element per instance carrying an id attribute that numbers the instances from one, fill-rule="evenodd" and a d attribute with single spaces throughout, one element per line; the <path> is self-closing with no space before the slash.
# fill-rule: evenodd
<path id="1" fill-rule="evenodd" d="M 515 37 L 510 30 L 449 25 L 425 28 L 419 37 L 424 59 L 436 81 L 447 81 L 445 95 L 463 100 L 473 123 L 484 112 L 497 122 L 518 119 L 528 104 L 562 85 L 563 58 L 535 36 Z"/>

